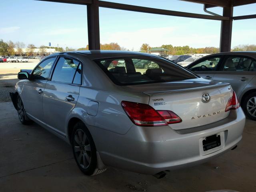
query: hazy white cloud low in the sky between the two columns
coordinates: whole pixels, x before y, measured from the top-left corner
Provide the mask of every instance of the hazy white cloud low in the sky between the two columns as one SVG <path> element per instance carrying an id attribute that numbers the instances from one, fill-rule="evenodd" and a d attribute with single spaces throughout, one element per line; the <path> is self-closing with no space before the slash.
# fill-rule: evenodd
<path id="1" fill-rule="evenodd" d="M 219 46 L 219 34 L 192 33 L 186 28 L 162 27 L 134 30 L 131 32 L 111 32 L 101 36 L 101 43 L 118 42 L 120 46 L 134 50 L 140 50 L 143 43 L 148 43 L 151 47 L 162 44 L 172 44 L 173 46 Z"/>

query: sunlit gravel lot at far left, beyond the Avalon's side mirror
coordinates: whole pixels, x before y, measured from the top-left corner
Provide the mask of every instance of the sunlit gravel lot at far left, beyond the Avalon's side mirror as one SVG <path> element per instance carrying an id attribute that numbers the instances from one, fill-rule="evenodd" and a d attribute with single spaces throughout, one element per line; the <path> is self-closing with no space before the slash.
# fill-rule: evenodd
<path id="1" fill-rule="evenodd" d="M 33 69 L 38 62 L 39 59 L 31 59 L 28 63 L 0 63 L 0 102 L 11 101 L 9 92 L 14 90 L 18 72 Z"/>

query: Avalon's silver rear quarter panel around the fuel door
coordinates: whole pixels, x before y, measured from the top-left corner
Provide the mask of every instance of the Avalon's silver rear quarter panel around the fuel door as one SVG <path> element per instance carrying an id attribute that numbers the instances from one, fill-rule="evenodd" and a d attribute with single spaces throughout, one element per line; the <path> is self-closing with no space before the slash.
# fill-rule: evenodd
<path id="1" fill-rule="evenodd" d="M 95 128 L 101 128 L 118 134 L 126 134 L 133 123 L 121 106 L 122 100 L 147 103 L 149 96 L 143 99 L 89 88 L 80 88 L 80 96 L 70 116 L 80 116 L 85 124 Z M 96 116 L 88 115 L 87 113 L 90 101 L 99 103 Z"/>

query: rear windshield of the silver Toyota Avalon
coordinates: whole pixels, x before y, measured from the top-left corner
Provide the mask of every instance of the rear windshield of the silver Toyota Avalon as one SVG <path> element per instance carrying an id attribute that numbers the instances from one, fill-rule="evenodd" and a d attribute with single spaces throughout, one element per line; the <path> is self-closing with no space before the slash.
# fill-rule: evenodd
<path id="1" fill-rule="evenodd" d="M 172 82 L 197 78 L 188 70 L 163 58 L 126 57 L 94 60 L 118 85 Z"/>

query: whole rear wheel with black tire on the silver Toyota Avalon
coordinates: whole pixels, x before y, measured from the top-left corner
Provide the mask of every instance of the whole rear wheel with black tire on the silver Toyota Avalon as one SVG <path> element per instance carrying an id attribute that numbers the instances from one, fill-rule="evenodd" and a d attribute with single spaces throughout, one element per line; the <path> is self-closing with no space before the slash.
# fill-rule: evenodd
<path id="1" fill-rule="evenodd" d="M 76 164 L 85 175 L 92 176 L 106 170 L 97 168 L 96 147 L 89 130 L 83 122 L 75 124 L 71 142 Z"/>

